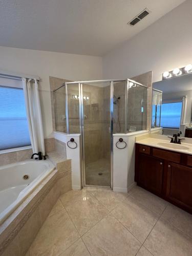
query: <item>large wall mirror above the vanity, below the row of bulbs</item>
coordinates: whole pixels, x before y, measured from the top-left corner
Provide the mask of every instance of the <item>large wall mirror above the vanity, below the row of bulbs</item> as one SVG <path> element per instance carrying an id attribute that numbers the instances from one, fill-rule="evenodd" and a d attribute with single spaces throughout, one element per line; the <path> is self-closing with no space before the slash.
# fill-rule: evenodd
<path id="1" fill-rule="evenodd" d="M 153 83 L 152 132 L 192 138 L 192 74 Z"/>

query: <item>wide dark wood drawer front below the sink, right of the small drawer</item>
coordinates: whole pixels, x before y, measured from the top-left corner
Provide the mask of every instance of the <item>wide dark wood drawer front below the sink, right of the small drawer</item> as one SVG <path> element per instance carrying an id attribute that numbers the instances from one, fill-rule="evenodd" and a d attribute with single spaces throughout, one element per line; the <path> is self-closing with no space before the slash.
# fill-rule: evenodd
<path id="1" fill-rule="evenodd" d="M 153 148 L 153 156 L 161 159 L 165 159 L 171 162 L 180 163 L 181 155 L 177 153 L 172 153 L 169 151 L 158 150 L 157 148 Z"/>

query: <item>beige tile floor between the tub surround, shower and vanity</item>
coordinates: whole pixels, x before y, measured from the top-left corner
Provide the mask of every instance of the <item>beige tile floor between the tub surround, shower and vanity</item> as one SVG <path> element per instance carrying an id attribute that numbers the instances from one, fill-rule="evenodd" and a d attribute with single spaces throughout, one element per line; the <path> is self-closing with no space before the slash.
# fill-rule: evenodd
<path id="1" fill-rule="evenodd" d="M 191 256 L 192 215 L 136 186 L 62 195 L 27 256 Z"/>

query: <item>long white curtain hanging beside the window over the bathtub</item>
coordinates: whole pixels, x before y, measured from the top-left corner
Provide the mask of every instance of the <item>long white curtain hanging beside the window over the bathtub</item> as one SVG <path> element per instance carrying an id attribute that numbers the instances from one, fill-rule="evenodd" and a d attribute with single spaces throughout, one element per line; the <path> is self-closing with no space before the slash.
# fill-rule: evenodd
<path id="1" fill-rule="evenodd" d="M 22 78 L 25 95 L 26 112 L 29 124 L 29 133 L 33 153 L 42 152 L 45 156 L 44 131 L 42 129 L 42 117 L 36 79 Z"/>

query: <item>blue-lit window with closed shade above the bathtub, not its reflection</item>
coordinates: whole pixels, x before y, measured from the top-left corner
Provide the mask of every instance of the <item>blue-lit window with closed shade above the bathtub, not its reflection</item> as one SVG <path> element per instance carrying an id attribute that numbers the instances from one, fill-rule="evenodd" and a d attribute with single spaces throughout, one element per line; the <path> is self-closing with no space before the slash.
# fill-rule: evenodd
<path id="1" fill-rule="evenodd" d="M 0 86 L 0 150 L 29 145 L 23 89 Z"/>

